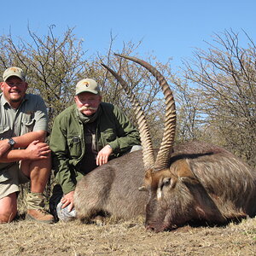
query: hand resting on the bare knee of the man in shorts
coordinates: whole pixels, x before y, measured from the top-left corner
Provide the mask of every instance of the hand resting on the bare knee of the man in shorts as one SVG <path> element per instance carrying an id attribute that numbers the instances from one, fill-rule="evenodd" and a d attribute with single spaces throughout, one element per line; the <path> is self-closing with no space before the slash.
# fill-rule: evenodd
<path id="1" fill-rule="evenodd" d="M 47 143 L 33 141 L 25 149 L 28 160 L 42 160 L 49 157 L 50 149 Z"/>

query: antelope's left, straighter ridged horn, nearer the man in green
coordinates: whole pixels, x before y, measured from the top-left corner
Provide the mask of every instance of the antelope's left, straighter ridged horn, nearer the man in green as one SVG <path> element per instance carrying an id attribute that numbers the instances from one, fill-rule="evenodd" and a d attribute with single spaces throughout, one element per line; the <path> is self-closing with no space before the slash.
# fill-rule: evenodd
<path id="1" fill-rule="evenodd" d="M 107 68 L 108 71 L 113 74 L 113 76 L 119 81 L 119 83 L 122 85 L 123 89 L 125 90 L 127 96 L 129 97 L 132 107 L 135 110 L 138 130 L 140 132 L 140 137 L 141 137 L 141 141 L 142 141 L 144 168 L 146 171 L 148 169 L 154 168 L 153 145 L 152 145 L 152 141 L 151 141 L 151 137 L 150 137 L 150 133 L 149 133 L 149 129 L 148 129 L 147 120 L 143 113 L 143 109 L 139 105 L 136 97 L 132 94 L 132 92 L 131 92 L 128 84 L 125 82 L 125 80 L 122 79 L 118 73 L 115 73 L 110 67 L 108 67 L 104 64 L 102 64 L 102 66 Z"/>

